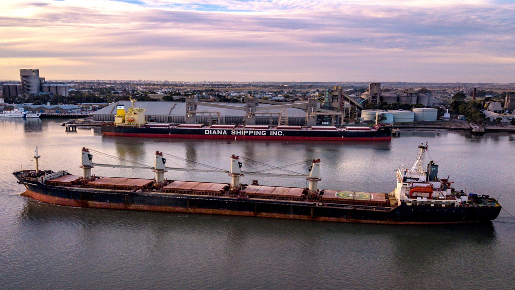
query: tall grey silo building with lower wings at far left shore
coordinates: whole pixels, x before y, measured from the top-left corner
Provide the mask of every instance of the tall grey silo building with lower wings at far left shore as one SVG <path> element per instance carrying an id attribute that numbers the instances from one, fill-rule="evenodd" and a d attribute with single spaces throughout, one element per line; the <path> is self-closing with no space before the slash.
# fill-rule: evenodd
<path id="1" fill-rule="evenodd" d="M 23 94 L 49 93 L 68 96 L 68 85 L 47 83 L 44 77 L 39 76 L 38 69 L 20 70 L 20 83 L 2 85 L 4 98 Z"/>

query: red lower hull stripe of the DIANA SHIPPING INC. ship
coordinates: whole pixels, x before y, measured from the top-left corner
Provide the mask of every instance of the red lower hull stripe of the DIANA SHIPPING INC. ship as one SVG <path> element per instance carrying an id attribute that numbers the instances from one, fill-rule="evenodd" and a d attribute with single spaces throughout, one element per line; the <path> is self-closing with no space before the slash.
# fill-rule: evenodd
<path id="1" fill-rule="evenodd" d="M 299 140 L 299 141 L 390 141 L 388 137 L 294 137 L 294 136 L 231 136 L 231 135 L 183 135 L 102 132 L 108 136 L 147 137 L 147 138 L 194 138 L 194 139 L 233 139 L 233 140 Z"/>

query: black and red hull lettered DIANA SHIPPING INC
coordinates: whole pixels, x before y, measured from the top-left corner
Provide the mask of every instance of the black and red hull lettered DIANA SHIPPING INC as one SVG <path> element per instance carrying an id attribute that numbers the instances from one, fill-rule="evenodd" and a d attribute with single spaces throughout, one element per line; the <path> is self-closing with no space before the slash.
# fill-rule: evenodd
<path id="1" fill-rule="evenodd" d="M 245 128 L 169 128 L 129 127 L 102 125 L 101 132 L 108 136 L 154 137 L 154 138 L 206 138 L 206 139 L 261 139 L 261 140 L 306 140 L 306 141 L 389 141 L 391 126 L 381 126 L 369 131 L 329 130 L 278 130 L 276 128 L 255 130 Z"/>

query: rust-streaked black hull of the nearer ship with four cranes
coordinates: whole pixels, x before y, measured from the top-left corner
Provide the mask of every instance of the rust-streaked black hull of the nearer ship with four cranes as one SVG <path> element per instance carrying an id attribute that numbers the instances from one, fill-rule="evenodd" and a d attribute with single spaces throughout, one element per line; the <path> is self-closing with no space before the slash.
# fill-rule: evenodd
<path id="1" fill-rule="evenodd" d="M 401 204 L 379 207 L 62 187 L 25 180 L 17 173 L 14 175 L 27 188 L 24 196 L 51 204 L 80 207 L 385 224 L 482 222 L 495 219 L 501 211 L 500 206 L 436 207 Z"/>

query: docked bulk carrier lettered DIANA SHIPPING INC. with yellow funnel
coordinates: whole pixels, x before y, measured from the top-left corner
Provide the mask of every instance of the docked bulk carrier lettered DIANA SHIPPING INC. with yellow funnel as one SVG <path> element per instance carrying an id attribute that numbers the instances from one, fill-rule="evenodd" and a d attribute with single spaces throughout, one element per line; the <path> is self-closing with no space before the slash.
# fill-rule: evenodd
<path id="1" fill-rule="evenodd" d="M 145 122 L 145 109 L 132 107 L 125 111 L 119 103 L 113 123 L 101 126 L 108 136 L 209 138 L 209 139 L 261 139 L 304 141 L 389 141 L 392 126 L 291 126 L 291 125 L 231 125 L 168 124 Z M 252 115 L 249 115 L 252 117 Z"/>

